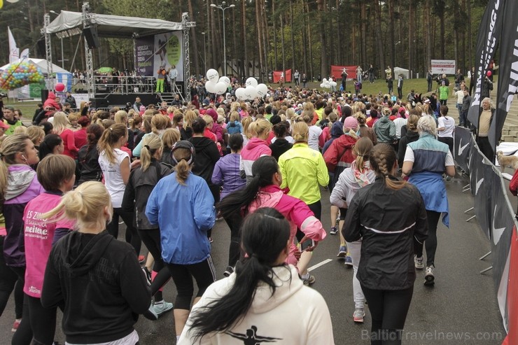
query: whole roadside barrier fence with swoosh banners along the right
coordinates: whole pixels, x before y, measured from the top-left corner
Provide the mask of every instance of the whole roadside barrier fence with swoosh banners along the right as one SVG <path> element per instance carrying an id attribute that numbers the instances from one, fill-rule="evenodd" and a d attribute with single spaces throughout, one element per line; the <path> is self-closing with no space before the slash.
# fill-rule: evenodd
<path id="1" fill-rule="evenodd" d="M 498 288 L 498 307 L 507 330 L 504 344 L 518 344 L 518 223 L 502 174 L 480 152 L 475 136 L 463 127 L 455 128 L 454 159 L 470 176 L 472 209 L 482 232 L 491 242 L 492 265 L 481 273 L 492 269 Z"/>

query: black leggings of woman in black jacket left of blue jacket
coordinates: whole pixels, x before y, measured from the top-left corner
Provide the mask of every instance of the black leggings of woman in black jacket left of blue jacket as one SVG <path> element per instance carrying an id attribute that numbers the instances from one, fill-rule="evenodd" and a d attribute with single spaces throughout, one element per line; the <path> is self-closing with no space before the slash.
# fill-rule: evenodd
<path id="1" fill-rule="evenodd" d="M 161 301 L 162 291 L 160 289 L 165 286 L 171 274 L 169 269 L 165 266 L 164 260 L 162 260 L 162 245 L 160 244 L 160 229 L 151 230 L 139 230 L 139 236 L 148 248 L 149 253 L 153 255 L 155 264 L 153 265 L 153 271 L 157 273 L 153 282 L 151 283 L 151 293 L 155 296 L 155 301 Z"/>

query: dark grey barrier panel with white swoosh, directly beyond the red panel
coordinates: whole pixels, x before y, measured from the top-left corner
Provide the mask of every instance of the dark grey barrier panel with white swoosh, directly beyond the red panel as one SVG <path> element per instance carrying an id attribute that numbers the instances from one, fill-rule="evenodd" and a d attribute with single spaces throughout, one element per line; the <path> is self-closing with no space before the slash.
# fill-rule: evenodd
<path id="1" fill-rule="evenodd" d="M 489 183 L 491 192 L 491 258 L 493 258 L 493 279 L 495 286 L 505 269 L 512 229 L 514 227 L 514 211 L 507 197 L 507 190 L 500 171 L 491 167 L 492 176 L 484 183 Z"/>

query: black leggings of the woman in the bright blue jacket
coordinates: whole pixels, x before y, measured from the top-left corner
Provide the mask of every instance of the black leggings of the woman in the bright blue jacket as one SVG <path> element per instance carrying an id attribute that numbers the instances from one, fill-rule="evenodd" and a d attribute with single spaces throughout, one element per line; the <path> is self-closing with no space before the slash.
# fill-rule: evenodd
<path id="1" fill-rule="evenodd" d="M 176 286 L 177 295 L 174 301 L 174 309 L 190 310 L 190 302 L 194 294 L 193 277 L 198 286 L 196 297 L 202 297 L 209 285 L 216 281 L 214 263 L 210 255 L 206 260 L 193 265 L 166 265 Z"/>

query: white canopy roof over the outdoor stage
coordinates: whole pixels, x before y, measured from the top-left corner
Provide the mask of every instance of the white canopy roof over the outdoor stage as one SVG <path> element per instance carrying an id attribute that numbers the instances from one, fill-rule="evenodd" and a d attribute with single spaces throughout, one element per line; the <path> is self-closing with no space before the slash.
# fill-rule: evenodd
<path id="1" fill-rule="evenodd" d="M 148 36 L 183 29 L 181 23 L 161 19 L 99 15 L 97 13 L 90 13 L 89 16 L 90 23 L 97 24 L 99 37 L 136 38 L 135 35 Z M 83 29 L 83 14 L 62 10 L 48 25 L 47 34 L 57 34 L 73 29 Z"/>

